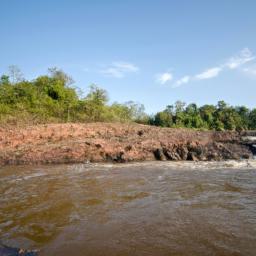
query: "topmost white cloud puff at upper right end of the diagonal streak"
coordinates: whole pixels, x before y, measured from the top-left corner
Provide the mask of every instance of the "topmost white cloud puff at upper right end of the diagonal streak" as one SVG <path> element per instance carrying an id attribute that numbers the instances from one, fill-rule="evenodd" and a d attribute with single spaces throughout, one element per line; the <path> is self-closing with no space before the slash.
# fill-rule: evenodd
<path id="1" fill-rule="evenodd" d="M 226 66 L 230 69 L 236 69 L 243 64 L 250 62 L 255 59 L 255 56 L 248 48 L 244 48 L 237 56 L 231 57 Z"/>

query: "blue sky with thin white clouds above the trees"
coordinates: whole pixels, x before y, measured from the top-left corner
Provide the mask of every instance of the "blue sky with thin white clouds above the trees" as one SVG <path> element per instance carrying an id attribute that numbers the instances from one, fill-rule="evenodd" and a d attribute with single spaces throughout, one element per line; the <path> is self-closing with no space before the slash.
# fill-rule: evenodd
<path id="1" fill-rule="evenodd" d="M 57 66 L 87 91 L 139 101 L 256 107 L 254 0 L 0 0 L 0 74 Z"/>

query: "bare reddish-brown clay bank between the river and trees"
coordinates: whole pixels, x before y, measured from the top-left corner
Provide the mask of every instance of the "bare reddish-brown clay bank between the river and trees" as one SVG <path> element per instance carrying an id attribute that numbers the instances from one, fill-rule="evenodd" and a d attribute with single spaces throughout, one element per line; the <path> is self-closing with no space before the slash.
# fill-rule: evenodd
<path id="1" fill-rule="evenodd" d="M 0 165 L 250 157 L 236 132 L 114 123 L 0 128 Z"/>

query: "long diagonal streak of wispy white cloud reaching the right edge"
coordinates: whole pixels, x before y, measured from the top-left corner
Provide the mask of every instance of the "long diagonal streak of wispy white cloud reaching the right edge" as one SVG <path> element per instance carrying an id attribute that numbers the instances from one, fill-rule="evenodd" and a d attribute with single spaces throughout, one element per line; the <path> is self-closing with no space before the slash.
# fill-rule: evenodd
<path id="1" fill-rule="evenodd" d="M 179 87 L 183 84 L 187 84 L 190 81 L 205 80 L 217 77 L 221 72 L 225 71 L 225 69 L 238 69 L 246 63 L 252 62 L 255 59 L 256 57 L 255 55 L 253 55 L 250 49 L 244 48 L 237 55 L 229 58 L 226 62 L 220 64 L 219 66 L 208 68 L 197 75 L 183 76 L 182 78 L 176 80 L 172 87 Z M 243 71 L 250 75 L 256 76 L 256 66 L 251 68 L 244 68 Z"/>

